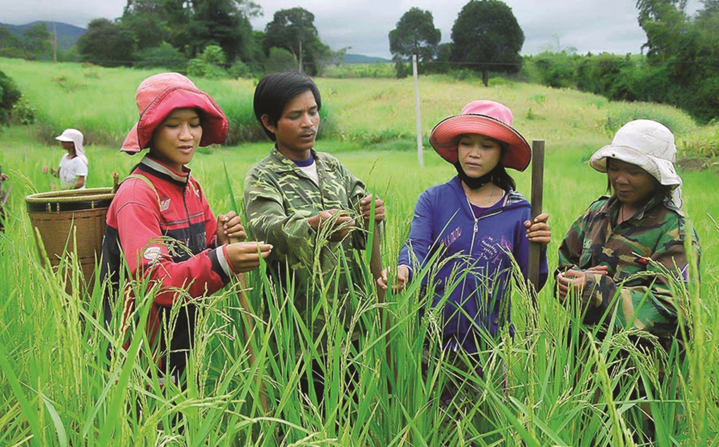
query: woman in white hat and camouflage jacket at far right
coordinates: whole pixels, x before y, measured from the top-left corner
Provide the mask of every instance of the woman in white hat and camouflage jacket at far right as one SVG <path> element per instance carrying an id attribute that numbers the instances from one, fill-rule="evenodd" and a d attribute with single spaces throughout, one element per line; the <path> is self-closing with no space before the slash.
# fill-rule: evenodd
<path id="1" fill-rule="evenodd" d="M 574 289 L 585 323 L 608 322 L 616 313 L 618 328 L 649 331 L 664 346 L 680 315 L 670 282 L 689 281 L 687 237 L 697 267 L 700 257 L 697 234 L 687 233 L 681 210 L 676 152 L 672 132 L 646 119 L 625 124 L 612 144 L 595 152 L 590 165 L 608 173 L 613 195 L 599 198 L 572 224 L 555 272 L 558 298 L 564 301 Z"/>

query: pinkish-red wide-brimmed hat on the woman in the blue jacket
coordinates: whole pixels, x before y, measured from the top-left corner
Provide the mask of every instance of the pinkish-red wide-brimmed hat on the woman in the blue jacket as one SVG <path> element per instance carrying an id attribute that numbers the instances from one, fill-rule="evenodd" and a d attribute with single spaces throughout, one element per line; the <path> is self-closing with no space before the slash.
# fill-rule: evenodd
<path id="1" fill-rule="evenodd" d="M 457 162 L 457 144 L 464 134 L 482 134 L 507 144 L 500 161 L 504 167 L 523 171 L 529 165 L 532 151 L 527 140 L 512 127 L 512 111 L 495 101 L 472 101 L 462 113 L 450 116 L 434 126 L 429 144 L 444 160 Z"/>

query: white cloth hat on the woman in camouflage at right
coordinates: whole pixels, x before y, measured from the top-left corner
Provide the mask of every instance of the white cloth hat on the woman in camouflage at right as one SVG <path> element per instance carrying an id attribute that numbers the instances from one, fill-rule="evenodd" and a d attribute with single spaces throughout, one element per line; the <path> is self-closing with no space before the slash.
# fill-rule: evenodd
<path id="1" fill-rule="evenodd" d="M 672 200 L 682 206 L 682 178 L 674 169 L 677 146 L 667 126 L 651 119 L 636 119 L 620 127 L 612 140 L 592 155 L 589 164 L 599 172 L 607 172 L 607 158 L 641 167 L 661 185 L 674 186 Z"/>

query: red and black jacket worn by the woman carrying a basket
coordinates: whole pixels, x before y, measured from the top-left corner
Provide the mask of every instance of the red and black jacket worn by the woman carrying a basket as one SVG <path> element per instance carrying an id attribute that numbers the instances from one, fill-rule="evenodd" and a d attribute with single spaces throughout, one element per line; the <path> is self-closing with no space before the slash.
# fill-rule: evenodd
<path id="1" fill-rule="evenodd" d="M 106 295 L 109 298 L 118 292 L 120 270 L 124 268 L 133 279 L 149 280 L 150 286 L 159 283 L 160 291 L 147 321 L 147 336 L 158 367 L 162 367 L 162 357 L 169 347 L 170 369 L 181 373 L 192 344 L 194 306 L 186 305 L 186 313 L 178 316 L 170 346 L 166 346 L 161 333 L 163 318 L 168 318 L 176 300 L 211 295 L 224 287 L 232 275 L 224 247 L 214 247 L 217 221 L 199 183 L 187 168 L 176 172 L 146 156 L 117 190 L 106 224 L 101 269 L 101 278 L 109 280 L 105 283 L 109 285 Z M 122 291 L 125 331 L 134 300 L 129 288 Z M 111 300 L 106 299 L 108 326 L 113 314 L 117 315 Z"/>

